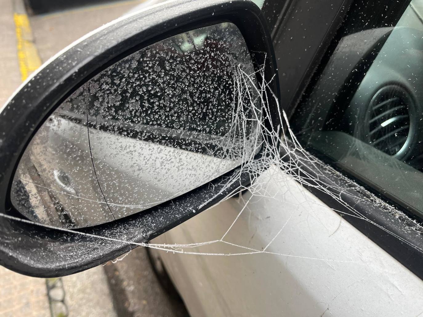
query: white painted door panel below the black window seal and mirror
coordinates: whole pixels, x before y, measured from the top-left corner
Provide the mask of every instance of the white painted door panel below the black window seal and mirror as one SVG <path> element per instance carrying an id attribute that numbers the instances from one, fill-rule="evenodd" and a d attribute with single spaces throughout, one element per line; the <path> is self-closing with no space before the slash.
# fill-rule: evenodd
<path id="1" fill-rule="evenodd" d="M 259 185 L 258 185 L 259 184 Z M 191 316 L 419 316 L 423 281 L 274 166 L 223 240 L 249 255 L 158 252 Z M 244 194 L 247 201 L 251 193 Z M 222 238 L 244 202 L 228 199 L 153 243 Z M 184 251 L 249 252 L 218 242 Z"/>

